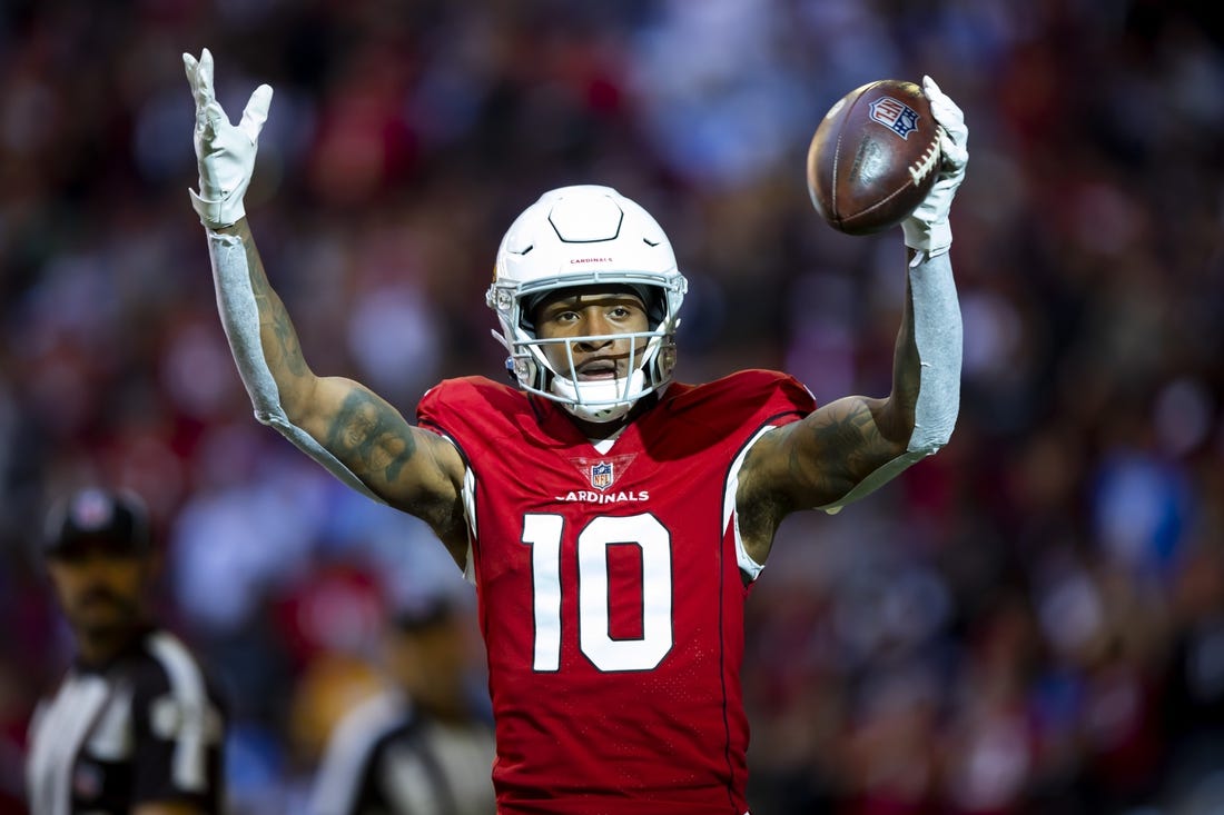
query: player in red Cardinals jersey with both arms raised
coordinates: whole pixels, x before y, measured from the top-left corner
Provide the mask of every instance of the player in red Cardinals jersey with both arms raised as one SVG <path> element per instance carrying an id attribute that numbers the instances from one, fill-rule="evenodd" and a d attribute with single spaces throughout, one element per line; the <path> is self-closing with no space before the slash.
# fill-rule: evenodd
<path id="1" fill-rule="evenodd" d="M 672 379 L 687 281 L 645 209 L 552 190 L 510 225 L 487 303 L 514 387 L 449 379 L 416 422 L 318 376 L 268 285 L 245 217 L 272 88 L 237 125 L 213 59 L 184 55 L 218 305 L 256 417 L 353 488 L 424 519 L 475 584 L 497 732 L 498 809 L 743 815 L 744 601 L 792 512 L 835 512 L 942 447 L 960 403 L 949 209 L 939 180 L 905 221 L 907 297 L 892 393 L 816 406 L 785 373 Z M 900 270 L 898 270 L 900 272 Z"/>

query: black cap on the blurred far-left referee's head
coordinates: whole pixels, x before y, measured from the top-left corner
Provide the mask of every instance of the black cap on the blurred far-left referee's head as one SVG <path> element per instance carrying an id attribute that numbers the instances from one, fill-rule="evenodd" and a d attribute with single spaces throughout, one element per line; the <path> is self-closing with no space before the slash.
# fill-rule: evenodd
<path id="1" fill-rule="evenodd" d="M 86 487 L 51 508 L 44 557 L 73 558 L 91 551 L 138 557 L 152 552 L 148 509 L 136 493 Z"/>

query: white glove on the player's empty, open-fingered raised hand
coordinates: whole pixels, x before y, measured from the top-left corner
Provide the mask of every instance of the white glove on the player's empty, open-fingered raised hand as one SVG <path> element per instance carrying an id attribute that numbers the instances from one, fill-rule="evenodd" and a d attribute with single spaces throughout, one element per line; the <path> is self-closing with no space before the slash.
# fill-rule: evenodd
<path id="1" fill-rule="evenodd" d="M 261 84 L 251 94 L 242 121 L 230 124 L 217 102 L 213 88 L 213 55 L 206 48 L 200 60 L 182 55 L 187 82 L 196 98 L 196 159 L 200 162 L 200 192 L 191 192 L 191 204 L 200 213 L 200 223 L 208 229 L 220 229 L 237 223 L 246 209 L 242 196 L 255 171 L 255 154 L 259 148 L 259 131 L 268 119 L 272 87 Z"/>

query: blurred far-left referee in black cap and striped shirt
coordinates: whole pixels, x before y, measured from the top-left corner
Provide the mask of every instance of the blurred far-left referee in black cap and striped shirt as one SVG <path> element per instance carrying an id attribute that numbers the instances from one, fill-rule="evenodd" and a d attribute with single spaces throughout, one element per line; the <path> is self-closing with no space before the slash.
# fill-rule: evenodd
<path id="1" fill-rule="evenodd" d="M 31 721 L 31 815 L 223 813 L 224 711 L 151 613 L 160 558 L 143 503 L 102 488 L 69 496 L 43 557 L 76 653 Z"/>

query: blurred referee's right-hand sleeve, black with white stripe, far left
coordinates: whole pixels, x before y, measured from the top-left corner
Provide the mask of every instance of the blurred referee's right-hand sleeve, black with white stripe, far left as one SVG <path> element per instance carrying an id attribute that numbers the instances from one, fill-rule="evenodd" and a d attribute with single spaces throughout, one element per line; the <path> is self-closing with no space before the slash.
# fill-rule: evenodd
<path id="1" fill-rule="evenodd" d="M 154 661 L 132 677 L 132 803 L 219 798 L 225 712 L 198 662 L 176 639 L 155 634 Z"/>

